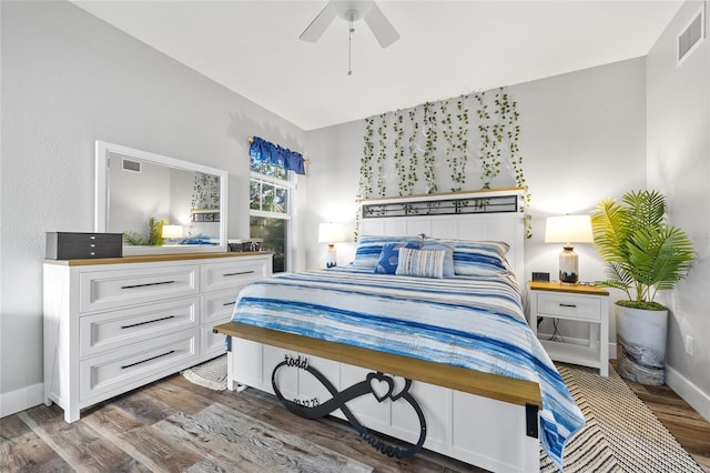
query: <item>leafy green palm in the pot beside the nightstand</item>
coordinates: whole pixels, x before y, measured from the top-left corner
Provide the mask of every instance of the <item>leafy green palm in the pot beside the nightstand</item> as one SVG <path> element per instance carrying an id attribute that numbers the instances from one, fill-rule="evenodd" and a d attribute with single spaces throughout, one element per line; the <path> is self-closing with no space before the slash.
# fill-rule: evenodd
<path id="1" fill-rule="evenodd" d="M 607 263 L 599 285 L 626 292 L 619 305 L 667 310 L 655 302 L 658 291 L 673 289 L 688 275 L 694 258 L 686 233 L 666 221 L 666 198 L 657 191 L 631 191 L 605 199 L 591 215 L 595 246 Z"/>

